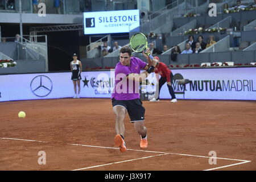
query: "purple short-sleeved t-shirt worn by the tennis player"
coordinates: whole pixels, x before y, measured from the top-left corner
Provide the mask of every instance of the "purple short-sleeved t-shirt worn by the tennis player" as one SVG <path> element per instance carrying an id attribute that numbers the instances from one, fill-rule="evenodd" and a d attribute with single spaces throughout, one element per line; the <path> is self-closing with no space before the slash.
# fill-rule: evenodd
<path id="1" fill-rule="evenodd" d="M 130 73 L 141 73 L 147 63 L 138 57 L 131 57 L 129 66 L 123 66 L 120 62 L 115 66 L 115 88 L 111 98 L 115 100 L 134 100 L 139 98 L 139 83 L 126 78 Z"/>

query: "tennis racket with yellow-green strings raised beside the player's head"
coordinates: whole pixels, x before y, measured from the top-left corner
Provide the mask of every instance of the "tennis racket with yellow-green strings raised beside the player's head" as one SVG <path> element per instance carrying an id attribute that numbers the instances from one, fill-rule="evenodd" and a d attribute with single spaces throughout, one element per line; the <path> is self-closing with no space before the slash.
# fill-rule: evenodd
<path id="1" fill-rule="evenodd" d="M 133 36 L 131 36 L 130 38 L 130 46 L 131 49 L 134 52 L 144 52 L 147 49 L 147 38 L 144 34 L 142 34 L 141 32 L 134 34 Z M 146 52 L 144 52 L 146 53 Z M 154 59 L 154 57 L 152 55 L 150 55 L 150 53 L 146 53 L 150 59 Z"/>

